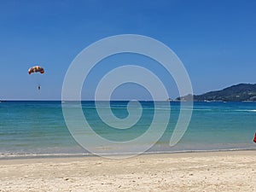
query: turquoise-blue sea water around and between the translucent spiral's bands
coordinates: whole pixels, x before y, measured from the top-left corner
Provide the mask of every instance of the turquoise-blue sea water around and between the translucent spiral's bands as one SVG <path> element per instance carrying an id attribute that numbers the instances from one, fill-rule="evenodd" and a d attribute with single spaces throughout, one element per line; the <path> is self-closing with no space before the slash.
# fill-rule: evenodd
<path id="1" fill-rule="evenodd" d="M 113 129 L 102 122 L 94 102 L 82 102 L 82 107 L 84 116 L 97 134 L 114 142 L 124 142 L 139 137 L 152 123 L 154 102 L 141 104 L 141 118 L 136 125 L 125 130 Z M 162 102 L 158 110 L 166 113 L 168 104 Z M 112 112 L 120 119 L 128 115 L 126 106 L 127 102 L 111 102 Z M 107 102 L 101 102 L 100 107 L 108 108 Z M 163 137 L 147 152 L 256 149 L 253 143 L 256 102 L 195 102 L 188 130 L 174 147 L 169 146 L 169 140 L 177 123 L 179 102 L 171 102 L 171 108 L 171 118 Z M 108 154 L 108 148 L 104 150 Z M 77 154 L 90 152 L 80 147 L 68 131 L 61 102 L 0 102 L 1 158 Z"/>

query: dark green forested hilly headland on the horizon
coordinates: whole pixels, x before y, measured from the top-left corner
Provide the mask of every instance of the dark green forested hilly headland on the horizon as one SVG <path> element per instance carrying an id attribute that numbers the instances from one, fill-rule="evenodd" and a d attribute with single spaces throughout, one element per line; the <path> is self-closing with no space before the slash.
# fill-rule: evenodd
<path id="1" fill-rule="evenodd" d="M 256 102 L 256 84 L 236 84 L 224 90 L 215 90 L 194 95 L 194 102 Z M 177 97 L 176 101 L 186 102 L 191 95 Z"/>

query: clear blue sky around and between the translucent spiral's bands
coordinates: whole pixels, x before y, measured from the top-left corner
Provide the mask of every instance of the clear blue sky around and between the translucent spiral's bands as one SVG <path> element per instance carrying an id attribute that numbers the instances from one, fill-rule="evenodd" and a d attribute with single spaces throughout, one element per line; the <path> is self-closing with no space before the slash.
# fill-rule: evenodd
<path id="1" fill-rule="evenodd" d="M 256 2 L 251 0 L 84 0 L 0 2 L 0 100 L 61 100 L 67 69 L 90 44 L 120 34 L 154 38 L 172 49 L 189 73 L 194 94 L 256 83 Z M 153 70 L 177 97 L 172 77 L 138 55 L 107 58 L 82 90 L 92 100 L 96 84 L 116 63 Z M 28 75 L 29 67 L 44 75 Z M 111 67 L 109 67 L 111 66 Z M 38 84 L 42 86 L 37 89 Z M 137 84 L 124 84 L 113 100 L 150 100 Z"/>

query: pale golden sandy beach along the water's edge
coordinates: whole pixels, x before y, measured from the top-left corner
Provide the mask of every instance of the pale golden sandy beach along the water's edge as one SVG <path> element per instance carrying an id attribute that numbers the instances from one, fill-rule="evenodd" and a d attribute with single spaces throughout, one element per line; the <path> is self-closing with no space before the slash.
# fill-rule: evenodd
<path id="1" fill-rule="evenodd" d="M 256 151 L 0 160 L 0 191 L 256 191 Z"/>

